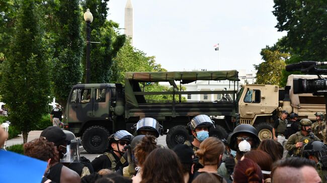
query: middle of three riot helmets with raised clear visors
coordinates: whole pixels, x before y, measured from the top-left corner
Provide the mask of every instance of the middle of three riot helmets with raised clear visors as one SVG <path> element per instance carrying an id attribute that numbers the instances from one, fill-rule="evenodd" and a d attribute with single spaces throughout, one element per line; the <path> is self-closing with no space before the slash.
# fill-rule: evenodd
<path id="1" fill-rule="evenodd" d="M 139 134 L 140 130 L 154 131 L 155 137 L 159 137 L 162 133 L 162 126 L 159 122 L 151 117 L 145 117 L 140 119 L 135 126 L 136 134 Z"/>

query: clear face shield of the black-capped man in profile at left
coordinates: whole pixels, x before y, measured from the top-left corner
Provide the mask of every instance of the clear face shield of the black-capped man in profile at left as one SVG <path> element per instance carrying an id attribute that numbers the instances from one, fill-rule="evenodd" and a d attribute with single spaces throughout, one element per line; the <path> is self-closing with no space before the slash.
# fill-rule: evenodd
<path id="1" fill-rule="evenodd" d="M 60 162 L 79 162 L 79 140 L 68 130 L 62 130 L 66 134 L 66 152 L 60 158 Z"/>

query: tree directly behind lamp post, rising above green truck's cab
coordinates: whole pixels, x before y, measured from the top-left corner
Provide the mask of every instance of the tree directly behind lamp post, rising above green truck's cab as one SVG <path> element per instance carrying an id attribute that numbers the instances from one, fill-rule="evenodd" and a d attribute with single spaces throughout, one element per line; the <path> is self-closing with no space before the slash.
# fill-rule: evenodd
<path id="1" fill-rule="evenodd" d="M 94 17 L 91 24 L 91 40 L 100 42 L 100 44 L 91 45 L 90 83 L 108 83 L 110 81 L 112 60 L 126 41 L 125 35 L 118 34 L 119 25 L 106 20 L 108 1 L 87 0 L 82 5 L 84 10 L 89 8 Z"/>

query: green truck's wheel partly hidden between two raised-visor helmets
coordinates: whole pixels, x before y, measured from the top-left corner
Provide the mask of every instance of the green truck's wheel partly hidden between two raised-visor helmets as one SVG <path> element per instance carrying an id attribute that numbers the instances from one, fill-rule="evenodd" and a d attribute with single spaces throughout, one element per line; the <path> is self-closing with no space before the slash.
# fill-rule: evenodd
<path id="1" fill-rule="evenodd" d="M 190 134 L 183 125 L 177 125 L 169 129 L 166 136 L 167 146 L 172 149 L 177 144 L 184 144 L 186 140 L 190 140 Z"/>

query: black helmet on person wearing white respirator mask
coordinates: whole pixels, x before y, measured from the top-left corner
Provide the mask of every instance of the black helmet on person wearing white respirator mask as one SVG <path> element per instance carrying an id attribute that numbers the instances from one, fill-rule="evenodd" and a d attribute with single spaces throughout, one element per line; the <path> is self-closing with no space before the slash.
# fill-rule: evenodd
<path id="1" fill-rule="evenodd" d="M 233 133 L 230 136 L 229 146 L 231 149 L 233 149 L 233 150 L 238 149 L 237 135 L 240 133 L 249 133 L 252 136 L 252 138 L 253 138 L 252 145 L 253 146 L 251 148 L 256 148 L 259 145 L 260 139 L 258 137 L 258 132 L 257 132 L 256 128 L 250 124 L 240 124 L 234 128 Z"/>

